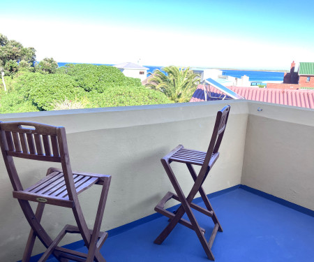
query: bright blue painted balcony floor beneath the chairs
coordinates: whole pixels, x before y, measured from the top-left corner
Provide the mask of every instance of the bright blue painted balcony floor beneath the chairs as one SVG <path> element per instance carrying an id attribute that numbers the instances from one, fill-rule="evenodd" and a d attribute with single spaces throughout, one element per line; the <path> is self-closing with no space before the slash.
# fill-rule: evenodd
<path id="1" fill-rule="evenodd" d="M 244 189 L 210 201 L 223 226 L 211 249 L 215 261 L 314 261 L 314 217 Z M 208 240 L 214 224 L 204 214 L 195 211 L 195 216 Z M 180 224 L 162 245 L 155 245 L 166 225 L 167 218 L 160 217 L 114 235 L 101 253 L 107 262 L 209 261 L 195 232 Z M 77 251 L 86 252 L 84 247 Z"/>

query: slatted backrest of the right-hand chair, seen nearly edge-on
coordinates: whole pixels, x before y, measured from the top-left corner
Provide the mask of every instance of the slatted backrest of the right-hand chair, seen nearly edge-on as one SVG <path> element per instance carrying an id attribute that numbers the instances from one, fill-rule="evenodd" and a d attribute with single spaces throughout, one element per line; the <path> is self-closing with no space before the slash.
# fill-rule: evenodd
<path id="1" fill-rule="evenodd" d="M 229 112 L 230 105 L 226 105 L 222 110 L 217 112 L 213 134 L 211 135 L 211 141 L 209 143 L 207 154 L 204 159 L 204 163 L 202 165 L 200 173 L 202 173 L 202 171 L 206 173 L 206 170 L 209 166 L 209 161 L 211 160 L 211 156 L 218 153 L 220 143 L 223 140 L 223 134 L 225 133 L 225 127 L 227 126 Z"/>

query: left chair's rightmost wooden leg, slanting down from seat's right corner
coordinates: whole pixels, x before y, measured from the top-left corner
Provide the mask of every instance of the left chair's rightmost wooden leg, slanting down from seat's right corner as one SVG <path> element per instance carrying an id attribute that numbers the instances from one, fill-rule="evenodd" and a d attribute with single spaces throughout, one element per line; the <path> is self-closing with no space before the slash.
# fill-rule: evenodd
<path id="1" fill-rule="evenodd" d="M 105 177 L 105 180 L 103 182 L 103 189 L 100 194 L 100 200 L 98 204 L 98 210 L 96 214 L 94 229 L 91 235 L 91 241 L 89 242 L 89 253 L 87 256 L 87 262 L 94 261 L 94 257 L 96 258 L 96 261 L 98 262 L 105 261 L 105 259 L 103 259 L 103 256 L 100 254 L 99 250 L 97 249 L 96 245 L 97 245 L 101 222 L 103 221 L 103 212 L 105 211 L 105 205 L 106 205 L 109 186 L 110 186 L 110 180 L 111 180 L 111 177 Z M 98 251 L 97 255 L 95 254 L 96 249 Z"/>

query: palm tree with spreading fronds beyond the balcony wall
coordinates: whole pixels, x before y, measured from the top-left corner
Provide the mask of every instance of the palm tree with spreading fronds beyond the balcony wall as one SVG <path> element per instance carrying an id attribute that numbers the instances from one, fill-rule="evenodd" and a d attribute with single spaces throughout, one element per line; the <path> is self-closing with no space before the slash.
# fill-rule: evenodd
<path id="1" fill-rule="evenodd" d="M 188 102 L 200 82 L 200 75 L 190 68 L 177 66 L 166 66 L 162 70 L 165 73 L 156 69 L 145 86 L 163 92 L 174 103 Z"/>

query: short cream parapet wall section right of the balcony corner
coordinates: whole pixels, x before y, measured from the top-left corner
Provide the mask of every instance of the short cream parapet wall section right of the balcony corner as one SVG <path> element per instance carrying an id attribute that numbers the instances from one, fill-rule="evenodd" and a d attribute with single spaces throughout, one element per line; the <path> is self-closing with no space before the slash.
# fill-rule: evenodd
<path id="1" fill-rule="evenodd" d="M 241 184 L 314 210 L 314 110 L 248 103 Z"/>

